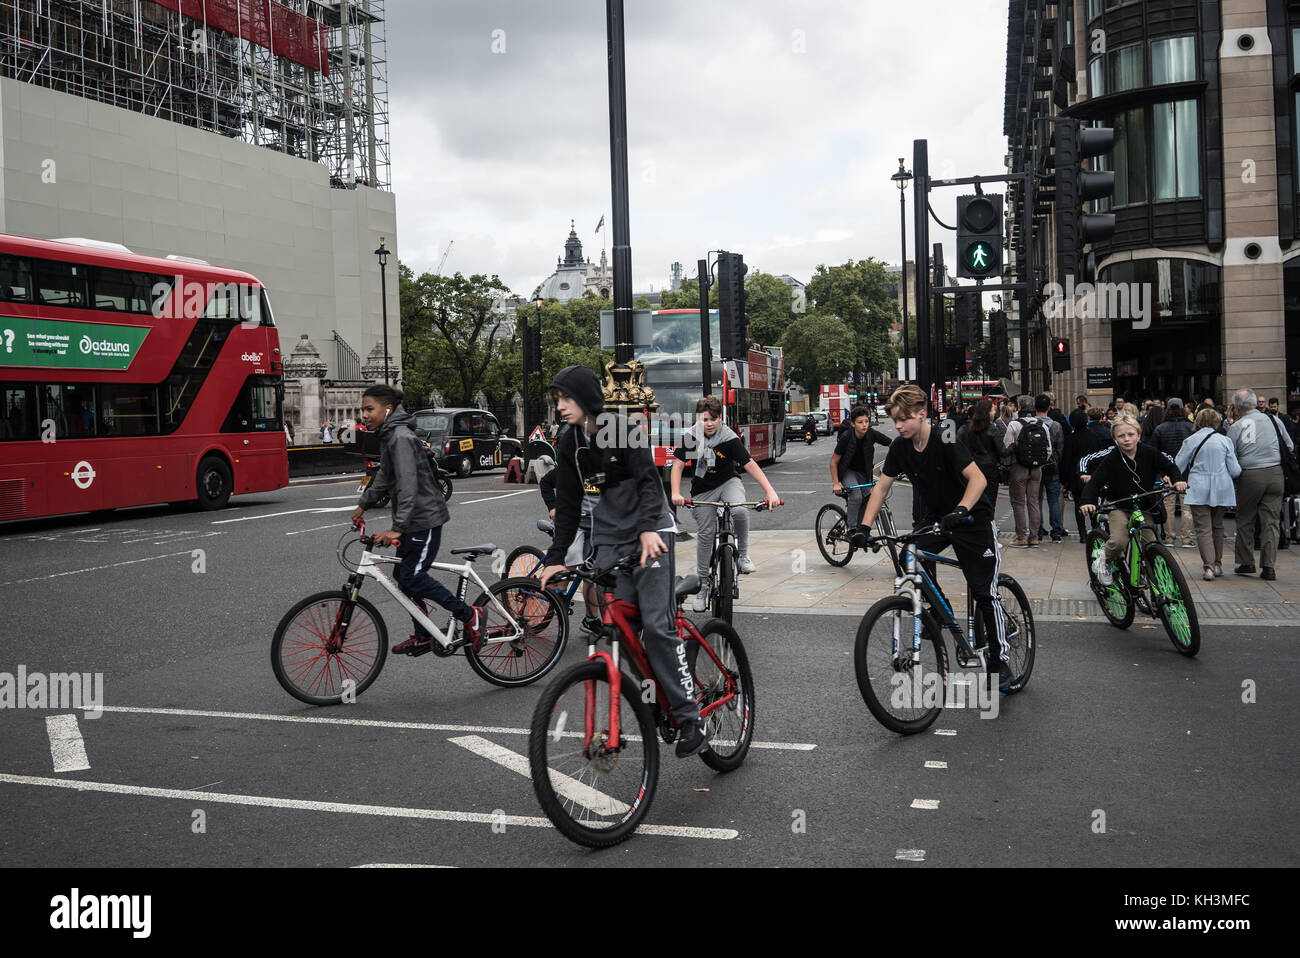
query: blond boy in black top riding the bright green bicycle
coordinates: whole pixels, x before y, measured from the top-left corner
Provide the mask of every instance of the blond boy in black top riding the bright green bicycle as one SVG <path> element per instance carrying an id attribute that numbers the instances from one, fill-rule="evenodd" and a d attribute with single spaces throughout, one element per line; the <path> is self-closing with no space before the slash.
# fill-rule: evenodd
<path id="1" fill-rule="evenodd" d="M 1079 511 L 1086 516 L 1097 511 L 1097 499 L 1101 497 L 1102 489 L 1106 491 L 1106 497 L 1113 500 L 1126 499 L 1139 493 L 1152 491 L 1156 487 L 1156 480 L 1164 478 L 1165 485 L 1173 486 L 1175 491 L 1187 491 L 1187 484 L 1183 481 L 1178 463 L 1154 446 L 1141 442 L 1141 426 L 1135 417 L 1119 413 L 1110 425 L 1110 435 L 1115 441 L 1114 446 L 1079 460 L 1079 477 L 1086 480 L 1083 493 L 1079 497 Z M 1110 575 L 1110 564 L 1128 549 L 1128 517 L 1134 508 L 1135 504 L 1130 503 L 1128 508 L 1115 510 L 1115 517 L 1110 521 L 1110 538 L 1106 539 L 1106 547 L 1092 560 L 1092 572 L 1102 585 L 1110 585 L 1114 581 Z M 1156 499 L 1147 513 L 1153 523 L 1164 523 L 1164 503 Z M 1147 530 L 1143 533 L 1143 538 L 1153 539 L 1154 533 Z"/>

